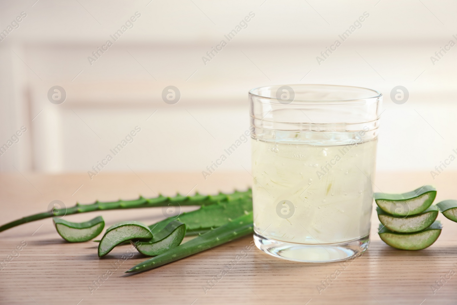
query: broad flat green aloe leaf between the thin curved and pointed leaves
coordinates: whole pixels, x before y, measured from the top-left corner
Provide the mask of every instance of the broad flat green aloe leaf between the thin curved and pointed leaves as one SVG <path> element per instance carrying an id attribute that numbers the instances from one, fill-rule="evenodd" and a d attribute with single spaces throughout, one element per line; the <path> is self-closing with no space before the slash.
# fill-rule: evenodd
<path id="1" fill-rule="evenodd" d="M 200 209 L 182 213 L 176 218 L 186 224 L 186 236 L 200 235 L 212 228 L 220 227 L 239 216 L 252 211 L 252 200 L 250 198 L 241 198 L 234 201 L 216 203 L 210 206 L 202 206 Z M 168 225 L 172 218 L 167 218 L 149 228 L 153 235 L 160 232 Z"/>

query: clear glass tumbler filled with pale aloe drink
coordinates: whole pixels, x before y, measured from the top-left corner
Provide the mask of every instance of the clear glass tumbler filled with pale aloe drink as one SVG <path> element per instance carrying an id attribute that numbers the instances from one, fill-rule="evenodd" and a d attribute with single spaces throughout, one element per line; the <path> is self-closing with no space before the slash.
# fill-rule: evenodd
<path id="1" fill-rule="evenodd" d="M 256 246 L 299 262 L 367 250 L 382 94 L 288 85 L 249 97 Z"/>

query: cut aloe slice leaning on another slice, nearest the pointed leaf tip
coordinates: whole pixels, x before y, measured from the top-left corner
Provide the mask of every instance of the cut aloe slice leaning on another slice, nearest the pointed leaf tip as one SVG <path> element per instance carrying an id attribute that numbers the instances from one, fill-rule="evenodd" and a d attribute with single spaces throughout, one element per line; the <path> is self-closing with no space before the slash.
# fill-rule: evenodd
<path id="1" fill-rule="evenodd" d="M 138 252 L 147 256 L 156 256 L 177 247 L 186 235 L 186 225 L 173 220 L 159 233 L 154 234 L 151 241 L 130 241 Z"/>

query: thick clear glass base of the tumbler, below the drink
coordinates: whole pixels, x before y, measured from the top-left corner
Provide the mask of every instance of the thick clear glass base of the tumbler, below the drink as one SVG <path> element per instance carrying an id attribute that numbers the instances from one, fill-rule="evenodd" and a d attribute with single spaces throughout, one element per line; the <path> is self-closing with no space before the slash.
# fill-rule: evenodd
<path id="1" fill-rule="evenodd" d="M 277 241 L 254 232 L 254 242 L 265 253 L 290 261 L 337 262 L 365 252 L 370 245 L 369 236 L 337 244 L 306 245 Z"/>

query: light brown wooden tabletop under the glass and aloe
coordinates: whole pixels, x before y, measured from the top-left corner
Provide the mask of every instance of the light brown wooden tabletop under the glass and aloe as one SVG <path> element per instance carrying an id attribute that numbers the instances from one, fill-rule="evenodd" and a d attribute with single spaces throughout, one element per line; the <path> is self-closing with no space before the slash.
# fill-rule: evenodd
<path id="1" fill-rule="evenodd" d="M 150 197 L 195 189 L 215 193 L 245 189 L 250 180 L 247 172 L 216 172 L 207 180 L 200 173 L 100 173 L 93 180 L 87 175 L 2 175 L 0 223 L 43 212 L 56 199 L 72 206 L 76 201 L 128 199 L 140 193 Z M 433 184 L 438 189 L 436 200 L 444 200 L 457 198 L 456 181 L 456 172 L 445 171 L 435 181 L 427 172 L 397 172 L 378 173 L 375 183 L 386 193 Z M 120 220 L 150 224 L 164 218 L 161 209 L 155 208 L 94 212 L 66 219 L 83 221 L 101 214 L 107 226 Z M 136 253 L 122 261 L 130 246 L 119 246 L 99 259 L 96 243 L 67 243 L 58 236 L 52 220 L 43 219 L 0 233 L 1 260 L 21 242 L 27 243 L 17 252 L 19 256 L 15 254 L 17 257 L 0 270 L 0 304 L 456 304 L 457 274 L 448 274 L 451 269 L 457 272 L 457 223 L 441 214 L 438 219 L 444 230 L 434 245 L 422 251 L 399 251 L 374 234 L 379 222 L 373 215 L 369 250 L 320 294 L 317 286 L 336 268 L 341 269 L 340 263 L 290 262 L 255 247 L 205 293 L 207 281 L 216 278 L 223 266 L 251 243 L 251 236 L 148 272 L 124 275 L 123 271 L 145 259 Z M 116 268 L 114 263 L 119 259 L 122 264 Z M 91 293 L 89 285 L 107 270 L 113 274 Z M 431 286 L 446 277 L 434 294 Z"/>

